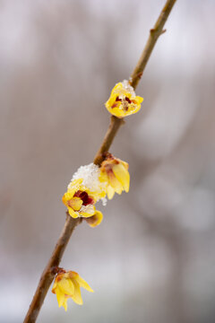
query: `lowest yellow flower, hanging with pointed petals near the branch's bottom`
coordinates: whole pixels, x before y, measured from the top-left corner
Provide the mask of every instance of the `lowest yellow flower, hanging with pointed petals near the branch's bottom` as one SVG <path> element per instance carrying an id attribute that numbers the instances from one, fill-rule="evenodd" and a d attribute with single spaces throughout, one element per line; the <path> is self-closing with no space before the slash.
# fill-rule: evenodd
<path id="1" fill-rule="evenodd" d="M 58 301 L 59 307 L 64 306 L 64 310 L 67 310 L 68 298 L 72 298 L 74 302 L 82 305 L 80 287 L 85 288 L 89 292 L 93 292 L 89 284 L 80 275 L 73 271 L 66 272 L 64 269 L 60 269 L 52 288 L 52 292 L 56 293 L 56 300 Z"/>

